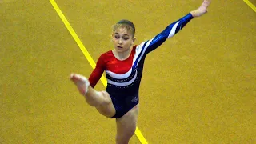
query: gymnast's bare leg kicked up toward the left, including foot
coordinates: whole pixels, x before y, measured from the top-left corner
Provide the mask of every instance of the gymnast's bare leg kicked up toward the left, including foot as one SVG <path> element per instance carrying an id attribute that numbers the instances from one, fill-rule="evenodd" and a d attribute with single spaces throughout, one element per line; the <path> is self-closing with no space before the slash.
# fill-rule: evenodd
<path id="1" fill-rule="evenodd" d="M 110 94 L 106 91 L 94 90 L 88 79 L 80 74 L 71 74 L 70 80 L 78 87 L 80 94 L 86 98 L 90 106 L 96 107 L 100 114 L 108 118 L 114 116 L 115 109 Z"/>

